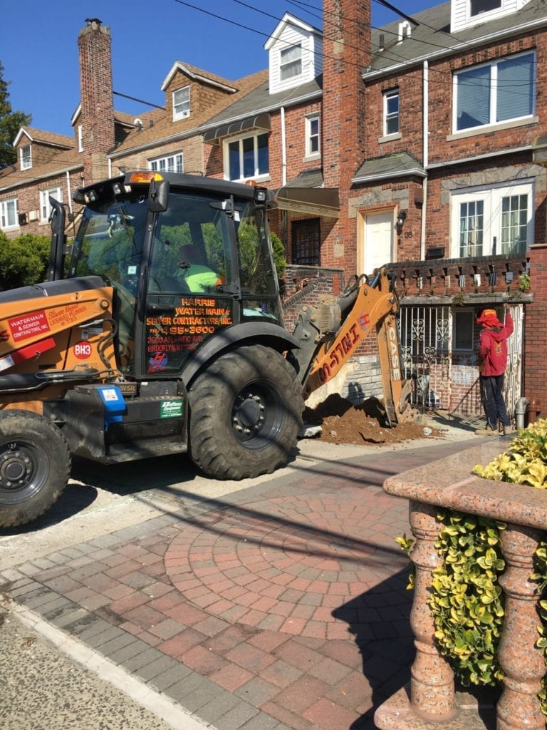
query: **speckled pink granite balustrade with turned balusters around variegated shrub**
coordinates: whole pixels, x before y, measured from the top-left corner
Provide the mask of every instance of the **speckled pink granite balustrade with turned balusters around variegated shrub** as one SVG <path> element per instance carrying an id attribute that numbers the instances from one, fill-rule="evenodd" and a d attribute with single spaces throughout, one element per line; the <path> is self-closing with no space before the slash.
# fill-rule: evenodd
<path id="1" fill-rule="evenodd" d="M 489 464 L 508 440 L 495 439 L 454 456 L 430 462 L 384 483 L 384 491 L 409 500 L 414 536 L 411 561 L 415 568 L 411 628 L 416 658 L 411 682 L 376 710 L 380 730 L 469 727 L 488 730 L 545 730 L 538 693 L 546 664 L 538 640 L 537 585 L 529 580 L 534 553 L 545 539 L 547 490 L 494 482 L 471 475 L 476 464 Z M 443 525 L 438 508 L 501 520 L 505 572 L 499 583 L 505 592 L 505 617 L 498 661 L 505 677 L 500 699 L 492 707 L 456 691 L 454 673 L 434 640 L 435 626 L 427 604 L 432 572 L 441 563 L 435 542 Z M 462 722 L 464 724 L 462 724 Z"/>

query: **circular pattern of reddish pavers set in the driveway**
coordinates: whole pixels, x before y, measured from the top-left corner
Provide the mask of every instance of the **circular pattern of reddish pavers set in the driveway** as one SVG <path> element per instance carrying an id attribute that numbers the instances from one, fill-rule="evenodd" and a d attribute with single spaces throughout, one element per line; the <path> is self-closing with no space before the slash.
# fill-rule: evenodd
<path id="1" fill-rule="evenodd" d="M 282 496 L 206 512 L 174 537 L 166 572 L 186 599 L 219 618 L 346 637 L 347 623 L 368 620 L 362 594 L 408 568 L 381 524 L 386 504 L 356 497 Z M 365 525 L 377 529 L 373 541 L 358 537 Z"/>

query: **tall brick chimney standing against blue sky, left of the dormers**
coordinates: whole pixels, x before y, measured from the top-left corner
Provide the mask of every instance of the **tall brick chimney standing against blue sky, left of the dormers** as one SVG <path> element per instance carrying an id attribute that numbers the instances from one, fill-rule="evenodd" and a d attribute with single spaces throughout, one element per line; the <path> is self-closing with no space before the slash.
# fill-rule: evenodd
<path id="1" fill-rule="evenodd" d="M 85 185 L 108 177 L 106 153 L 115 144 L 110 28 L 98 18 L 79 31 L 79 85 Z"/>

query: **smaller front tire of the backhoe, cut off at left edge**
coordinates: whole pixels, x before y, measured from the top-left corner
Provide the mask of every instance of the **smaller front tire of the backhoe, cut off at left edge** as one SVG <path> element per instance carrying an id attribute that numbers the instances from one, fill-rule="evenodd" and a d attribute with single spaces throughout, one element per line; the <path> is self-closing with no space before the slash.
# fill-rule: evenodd
<path id="1" fill-rule="evenodd" d="M 36 413 L 0 412 L 0 527 L 25 525 L 55 504 L 71 458 L 55 424 Z"/>

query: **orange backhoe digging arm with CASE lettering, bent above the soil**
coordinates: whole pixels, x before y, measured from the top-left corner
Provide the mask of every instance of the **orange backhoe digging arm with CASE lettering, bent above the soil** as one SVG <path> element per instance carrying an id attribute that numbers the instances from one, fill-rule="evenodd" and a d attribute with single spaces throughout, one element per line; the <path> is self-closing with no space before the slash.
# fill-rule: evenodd
<path id="1" fill-rule="evenodd" d="M 337 299 L 325 297 L 319 307 L 303 307 L 293 334 L 300 343 L 294 357 L 304 399 L 332 380 L 362 341 L 375 333 L 387 420 L 389 426 L 398 423 L 410 385 L 403 380 L 401 369 L 397 309 L 397 296 L 385 268 L 370 285 L 365 277 L 356 277 Z"/>

